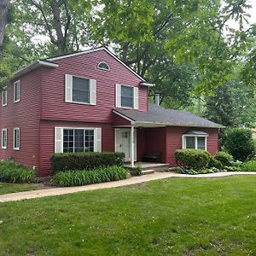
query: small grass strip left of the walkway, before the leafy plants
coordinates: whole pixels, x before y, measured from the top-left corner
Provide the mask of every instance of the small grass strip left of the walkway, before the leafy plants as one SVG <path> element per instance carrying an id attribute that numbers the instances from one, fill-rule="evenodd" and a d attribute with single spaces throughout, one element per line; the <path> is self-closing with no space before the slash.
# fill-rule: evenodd
<path id="1" fill-rule="evenodd" d="M 0 195 L 43 188 L 44 185 L 37 183 L 0 183 Z"/>

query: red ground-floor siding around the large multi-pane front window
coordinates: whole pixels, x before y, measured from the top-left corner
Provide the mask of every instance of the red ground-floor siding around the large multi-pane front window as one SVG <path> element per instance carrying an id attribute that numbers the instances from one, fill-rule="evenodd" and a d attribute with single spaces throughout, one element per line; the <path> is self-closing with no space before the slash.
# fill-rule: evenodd
<path id="1" fill-rule="evenodd" d="M 55 126 L 102 128 L 102 151 L 114 151 L 112 124 L 42 120 L 40 126 L 40 176 L 48 176 L 51 173 L 50 158 L 55 152 Z"/>

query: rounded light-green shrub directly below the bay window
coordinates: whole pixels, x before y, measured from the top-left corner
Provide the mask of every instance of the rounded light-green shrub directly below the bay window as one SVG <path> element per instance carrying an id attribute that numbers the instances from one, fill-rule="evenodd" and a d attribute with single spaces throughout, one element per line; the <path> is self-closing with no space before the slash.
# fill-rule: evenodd
<path id="1" fill-rule="evenodd" d="M 206 168 L 211 157 L 202 149 L 177 149 L 174 155 L 178 165 L 195 170 Z"/>

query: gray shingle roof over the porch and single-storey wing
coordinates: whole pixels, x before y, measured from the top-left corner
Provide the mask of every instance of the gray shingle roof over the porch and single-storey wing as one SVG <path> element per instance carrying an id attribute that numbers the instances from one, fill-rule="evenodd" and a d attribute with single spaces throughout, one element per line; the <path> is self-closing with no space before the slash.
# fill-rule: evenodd
<path id="1" fill-rule="evenodd" d="M 185 127 L 224 128 L 223 125 L 218 125 L 193 113 L 177 109 L 162 108 L 151 103 L 149 103 L 148 112 L 130 109 L 115 109 L 114 111 L 139 123 L 154 123 Z"/>

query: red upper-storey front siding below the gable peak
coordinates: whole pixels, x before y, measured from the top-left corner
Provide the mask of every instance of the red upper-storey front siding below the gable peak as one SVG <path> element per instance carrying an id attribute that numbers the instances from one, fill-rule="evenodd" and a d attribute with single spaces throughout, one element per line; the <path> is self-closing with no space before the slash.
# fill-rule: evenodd
<path id="1" fill-rule="evenodd" d="M 110 71 L 96 68 L 100 61 Z M 42 119 L 111 122 L 115 84 L 139 86 L 140 79 L 105 50 L 55 61 L 59 67 L 44 69 Z M 96 106 L 65 102 L 65 74 L 96 79 Z M 147 111 L 148 88 L 139 86 L 139 110 Z"/>

